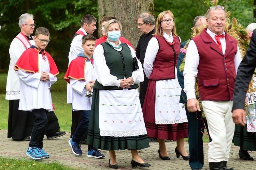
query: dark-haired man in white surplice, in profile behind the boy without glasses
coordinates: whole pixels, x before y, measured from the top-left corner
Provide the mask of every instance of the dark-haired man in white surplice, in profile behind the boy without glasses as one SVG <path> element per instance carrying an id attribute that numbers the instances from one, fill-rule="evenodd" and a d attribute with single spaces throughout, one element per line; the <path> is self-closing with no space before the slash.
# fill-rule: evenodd
<path id="1" fill-rule="evenodd" d="M 70 51 L 69 51 L 69 64 L 72 60 L 74 60 L 77 55 L 81 52 L 84 52 L 82 48 L 82 37 L 87 34 L 93 34 L 93 32 L 97 29 L 96 28 L 96 18 L 93 15 L 87 14 L 84 15 L 83 18 L 81 19 L 81 28 L 76 31 L 71 44 L 70 44 Z M 67 103 L 72 103 L 72 89 L 70 84 L 68 84 L 67 87 Z M 72 124 L 71 124 L 71 135 L 70 137 L 72 138 L 72 135 L 75 133 L 75 130 L 79 123 L 81 122 L 82 117 L 79 112 L 73 111 L 72 109 Z M 85 134 L 82 136 L 82 142 L 81 144 L 86 144 L 86 139 L 87 139 L 87 133 L 88 131 L 85 132 Z"/>

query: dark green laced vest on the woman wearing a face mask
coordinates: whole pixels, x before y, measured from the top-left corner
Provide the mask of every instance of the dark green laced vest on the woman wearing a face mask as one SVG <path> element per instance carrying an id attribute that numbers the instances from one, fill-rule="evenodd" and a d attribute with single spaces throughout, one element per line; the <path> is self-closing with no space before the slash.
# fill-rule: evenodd
<path id="1" fill-rule="evenodd" d="M 106 65 L 109 67 L 110 74 L 116 76 L 117 80 L 131 77 L 133 72 L 133 58 L 130 48 L 124 43 L 122 43 L 121 51 L 113 49 L 105 42 L 101 43 L 101 45 L 104 49 Z M 138 84 L 133 84 L 131 88 L 128 89 L 130 90 L 138 87 Z M 95 81 L 94 89 L 123 90 L 123 88 L 117 86 L 103 86 L 97 80 Z"/>

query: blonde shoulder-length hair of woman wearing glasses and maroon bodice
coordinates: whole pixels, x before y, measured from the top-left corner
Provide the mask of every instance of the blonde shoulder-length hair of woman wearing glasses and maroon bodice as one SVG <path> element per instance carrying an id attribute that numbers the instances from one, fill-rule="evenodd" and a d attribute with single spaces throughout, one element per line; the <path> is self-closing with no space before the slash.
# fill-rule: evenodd
<path id="1" fill-rule="evenodd" d="M 174 19 L 174 15 L 170 10 L 161 12 L 156 19 L 156 33 L 153 35 L 163 36 L 161 22 L 162 22 L 163 17 L 165 17 L 166 14 L 169 14 Z M 172 35 L 174 37 L 178 36 L 176 33 L 175 20 L 173 21 Z"/>

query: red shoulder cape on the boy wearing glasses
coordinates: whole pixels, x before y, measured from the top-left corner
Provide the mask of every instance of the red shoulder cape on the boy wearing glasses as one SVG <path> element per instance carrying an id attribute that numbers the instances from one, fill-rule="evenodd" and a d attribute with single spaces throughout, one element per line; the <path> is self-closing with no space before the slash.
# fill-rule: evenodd
<path id="1" fill-rule="evenodd" d="M 31 46 L 29 49 L 24 51 L 22 55 L 19 57 L 17 63 L 14 65 L 14 70 L 18 71 L 18 69 L 37 73 L 39 70 L 39 53 L 42 53 L 42 56 L 48 59 L 48 63 L 50 65 L 50 72 L 53 75 L 59 74 L 59 70 L 52 58 L 52 56 L 47 53 L 44 49 L 40 51 L 37 47 Z M 37 57 L 36 57 L 37 56 Z"/>

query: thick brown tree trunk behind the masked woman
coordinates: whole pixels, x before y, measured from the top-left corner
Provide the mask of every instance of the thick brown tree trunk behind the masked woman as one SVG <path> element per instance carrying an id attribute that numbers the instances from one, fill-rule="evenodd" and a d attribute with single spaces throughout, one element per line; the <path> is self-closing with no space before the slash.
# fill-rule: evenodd
<path id="1" fill-rule="evenodd" d="M 141 35 L 137 27 L 137 17 L 142 12 L 151 12 L 154 15 L 153 0 L 98 0 L 99 30 L 101 29 L 100 20 L 102 17 L 114 16 L 122 24 L 122 37 L 128 39 L 136 48 Z M 99 31 L 99 37 L 102 37 L 101 31 Z"/>

